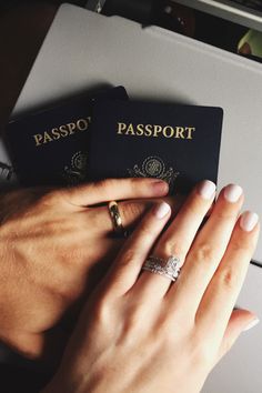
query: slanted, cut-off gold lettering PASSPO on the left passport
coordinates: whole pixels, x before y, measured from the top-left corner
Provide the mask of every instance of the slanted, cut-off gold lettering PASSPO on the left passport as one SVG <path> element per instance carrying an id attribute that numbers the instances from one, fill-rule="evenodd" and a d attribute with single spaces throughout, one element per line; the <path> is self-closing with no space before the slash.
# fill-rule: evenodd
<path id="1" fill-rule="evenodd" d="M 36 147 L 57 141 L 60 138 L 73 135 L 75 132 L 79 131 L 87 131 L 89 129 L 90 123 L 91 118 L 89 117 L 85 119 L 78 119 L 75 122 L 59 125 L 50 131 L 44 131 L 43 133 L 37 133 L 33 135 Z"/>

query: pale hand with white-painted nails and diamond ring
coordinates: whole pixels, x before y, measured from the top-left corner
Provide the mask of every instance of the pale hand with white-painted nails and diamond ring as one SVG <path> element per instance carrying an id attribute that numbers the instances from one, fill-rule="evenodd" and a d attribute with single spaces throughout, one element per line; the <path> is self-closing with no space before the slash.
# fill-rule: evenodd
<path id="1" fill-rule="evenodd" d="M 258 215 L 241 188 L 196 187 L 167 231 L 170 208 L 151 210 L 84 308 L 44 393 L 196 393 L 255 315 L 233 311 L 254 252 Z M 202 226 L 201 226 L 202 225 Z M 147 258 L 179 256 L 177 282 L 141 270 Z"/>

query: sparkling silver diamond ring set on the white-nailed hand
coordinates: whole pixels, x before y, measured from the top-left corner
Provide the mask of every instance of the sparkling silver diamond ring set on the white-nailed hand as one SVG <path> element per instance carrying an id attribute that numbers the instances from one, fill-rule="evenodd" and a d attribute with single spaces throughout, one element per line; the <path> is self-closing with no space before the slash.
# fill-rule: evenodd
<path id="1" fill-rule="evenodd" d="M 167 260 L 150 255 L 144 262 L 142 270 L 151 273 L 164 275 L 171 281 L 175 281 L 180 274 L 180 259 L 171 255 Z"/>

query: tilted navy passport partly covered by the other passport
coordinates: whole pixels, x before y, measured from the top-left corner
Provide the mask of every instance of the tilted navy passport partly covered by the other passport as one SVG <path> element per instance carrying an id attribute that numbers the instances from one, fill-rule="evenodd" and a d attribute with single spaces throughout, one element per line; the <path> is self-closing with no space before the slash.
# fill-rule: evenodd
<path id="1" fill-rule="evenodd" d="M 22 185 L 69 185 L 88 180 L 88 154 L 93 104 L 128 100 L 123 87 L 82 94 L 11 121 L 6 140 Z"/>

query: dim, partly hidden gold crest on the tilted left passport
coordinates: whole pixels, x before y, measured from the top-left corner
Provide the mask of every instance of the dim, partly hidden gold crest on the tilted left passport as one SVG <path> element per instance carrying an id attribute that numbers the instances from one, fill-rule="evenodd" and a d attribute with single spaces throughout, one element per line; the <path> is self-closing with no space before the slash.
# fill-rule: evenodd
<path id="1" fill-rule="evenodd" d="M 70 165 L 64 167 L 63 178 L 69 184 L 78 184 L 85 180 L 88 170 L 88 153 L 78 151 L 73 154 Z"/>

